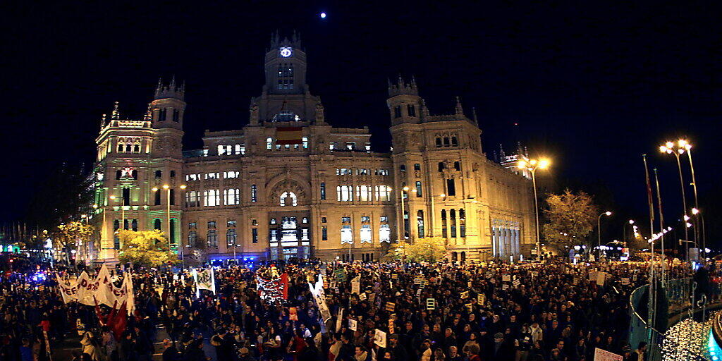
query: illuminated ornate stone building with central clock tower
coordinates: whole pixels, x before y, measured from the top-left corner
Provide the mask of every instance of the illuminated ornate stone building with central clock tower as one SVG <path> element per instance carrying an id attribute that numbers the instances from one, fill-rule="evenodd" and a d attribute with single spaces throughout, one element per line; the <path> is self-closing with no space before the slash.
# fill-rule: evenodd
<path id="1" fill-rule="evenodd" d="M 158 83 L 142 120 L 123 120 L 117 104 L 103 117 L 99 258 L 117 259 L 119 227 L 170 227 L 184 257 L 210 259 L 377 260 L 389 243 L 431 236 L 448 240 L 454 261 L 529 254 L 531 182 L 487 160 L 458 100 L 431 115 L 414 80 L 388 84 L 393 147 L 372 152 L 366 127 L 326 121 L 298 40 L 276 36 L 264 66 L 245 126 L 206 131 L 200 150 L 182 151 L 185 89 L 175 81 Z"/>

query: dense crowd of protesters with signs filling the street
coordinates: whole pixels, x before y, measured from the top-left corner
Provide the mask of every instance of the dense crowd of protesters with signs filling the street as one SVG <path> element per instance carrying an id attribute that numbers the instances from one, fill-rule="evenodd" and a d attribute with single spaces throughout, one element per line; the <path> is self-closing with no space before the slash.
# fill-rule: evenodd
<path id="1" fill-rule="evenodd" d="M 188 271 L 136 269 L 136 310 L 120 334 L 104 322 L 108 308 L 64 304 L 51 281 L 7 272 L 0 282 L 0 361 L 47 360 L 45 340 L 56 344 L 79 324 L 79 361 L 152 360 L 159 338 L 164 361 L 211 355 L 218 361 L 591 361 L 595 348 L 641 361 L 645 345 L 626 340 L 630 292 L 648 282 L 647 267 L 563 261 L 230 266 L 214 271 L 216 292 L 201 290 L 200 297 Z M 258 280 L 283 273 L 287 299 L 261 297 Z M 326 317 L 309 287 L 318 274 Z"/>

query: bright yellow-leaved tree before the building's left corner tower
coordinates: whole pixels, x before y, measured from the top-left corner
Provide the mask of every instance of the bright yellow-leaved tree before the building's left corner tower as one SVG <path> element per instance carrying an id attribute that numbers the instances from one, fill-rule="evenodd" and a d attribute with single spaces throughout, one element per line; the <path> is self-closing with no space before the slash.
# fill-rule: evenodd
<path id="1" fill-rule="evenodd" d="M 135 266 L 157 267 L 177 263 L 178 256 L 170 251 L 168 240 L 160 230 L 120 230 L 121 256 L 123 263 Z"/>

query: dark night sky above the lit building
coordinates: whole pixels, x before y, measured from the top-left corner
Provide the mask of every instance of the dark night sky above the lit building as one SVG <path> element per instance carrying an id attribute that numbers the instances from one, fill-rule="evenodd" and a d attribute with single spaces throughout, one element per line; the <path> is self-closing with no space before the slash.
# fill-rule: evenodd
<path id="1" fill-rule="evenodd" d="M 22 219 L 45 170 L 90 168 L 101 114 L 117 100 L 141 117 L 159 76 L 187 82 L 185 149 L 201 147 L 204 129 L 245 125 L 275 30 L 300 32 L 327 121 L 367 124 L 375 150 L 390 145 L 387 79 L 414 75 L 432 114 L 453 113 L 456 96 L 469 116 L 477 109 L 489 157 L 521 141 L 553 160 L 540 181 L 603 190 L 618 233 L 645 216 L 643 153 L 659 168 L 666 218 L 679 217 L 676 165 L 657 147 L 686 136 L 708 223 L 718 217 L 722 29 L 711 1 L 108 3 L 4 4 L 0 220 Z"/>

